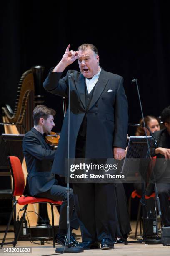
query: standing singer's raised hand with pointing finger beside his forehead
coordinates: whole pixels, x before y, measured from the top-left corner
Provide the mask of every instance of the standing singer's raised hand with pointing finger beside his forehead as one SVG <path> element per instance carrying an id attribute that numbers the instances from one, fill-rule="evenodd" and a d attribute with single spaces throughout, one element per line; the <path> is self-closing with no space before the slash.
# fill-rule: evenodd
<path id="1" fill-rule="evenodd" d="M 61 61 L 53 69 L 53 72 L 63 72 L 67 66 L 72 64 L 77 59 L 78 51 L 69 51 L 70 44 L 67 46 Z"/>

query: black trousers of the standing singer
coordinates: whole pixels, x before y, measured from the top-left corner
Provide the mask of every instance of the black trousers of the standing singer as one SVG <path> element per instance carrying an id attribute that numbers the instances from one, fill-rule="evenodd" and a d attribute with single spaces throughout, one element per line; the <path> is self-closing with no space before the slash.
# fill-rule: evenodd
<path id="1" fill-rule="evenodd" d="M 85 158 L 85 138 L 82 136 L 77 137 L 76 158 Z M 101 241 L 103 238 L 114 241 L 117 222 L 114 184 L 72 185 L 82 241 Z"/>

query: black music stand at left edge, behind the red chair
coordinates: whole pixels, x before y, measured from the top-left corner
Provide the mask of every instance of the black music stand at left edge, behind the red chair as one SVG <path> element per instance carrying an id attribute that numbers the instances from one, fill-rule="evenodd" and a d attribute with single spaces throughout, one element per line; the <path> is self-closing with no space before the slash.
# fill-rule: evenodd
<path id="1" fill-rule="evenodd" d="M 7 156 L 17 156 L 21 163 L 23 162 L 23 138 L 24 134 L 2 134 L 0 136 L 0 175 L 10 174 L 10 166 L 7 161 Z M 14 211 L 14 219 L 16 220 L 16 211 Z M 16 227 L 14 221 L 14 234 L 15 230 Z M 11 244 L 11 242 L 4 244 Z"/>

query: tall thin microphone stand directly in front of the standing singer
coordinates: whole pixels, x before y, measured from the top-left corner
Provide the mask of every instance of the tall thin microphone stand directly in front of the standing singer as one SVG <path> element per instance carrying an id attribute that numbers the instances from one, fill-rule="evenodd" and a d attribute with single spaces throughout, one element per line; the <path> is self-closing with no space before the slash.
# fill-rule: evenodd
<path id="1" fill-rule="evenodd" d="M 72 247 L 70 244 L 70 206 L 69 206 L 69 191 L 71 190 L 69 188 L 69 169 L 70 169 L 70 79 L 73 77 L 73 74 L 71 73 L 68 76 L 69 79 L 69 84 L 68 84 L 68 162 L 67 162 L 67 238 L 68 238 L 68 247 L 64 247 L 64 249 L 61 248 L 56 248 L 55 252 L 56 253 L 79 253 L 83 252 L 84 249 L 83 247 Z"/>

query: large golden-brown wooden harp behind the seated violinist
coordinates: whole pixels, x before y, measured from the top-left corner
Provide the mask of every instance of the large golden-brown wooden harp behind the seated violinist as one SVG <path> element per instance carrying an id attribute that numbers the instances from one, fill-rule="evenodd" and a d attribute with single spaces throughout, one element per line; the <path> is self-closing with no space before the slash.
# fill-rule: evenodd
<path id="1" fill-rule="evenodd" d="M 35 66 L 24 72 L 24 74 L 21 76 L 20 82 L 18 84 L 14 111 L 10 108 L 10 105 L 2 105 L 2 120 L 6 134 L 25 134 L 34 126 L 32 118 L 33 109 L 35 106 L 42 105 L 44 102 L 44 96 L 42 93 L 43 72 L 44 67 Z M 26 182 L 27 169 L 25 159 L 23 160 L 22 166 Z M 29 205 L 28 207 L 28 211 L 34 211 L 38 213 L 38 204 Z M 22 212 L 19 210 L 20 208 L 18 206 L 16 213 L 18 215 L 18 212 L 20 212 L 20 218 Z M 57 215 L 57 218 L 55 218 L 55 225 L 58 225 L 59 213 L 57 209 L 54 210 L 55 214 Z M 50 209 L 48 212 L 50 213 Z M 28 213 L 28 218 L 30 221 L 30 226 L 37 225 L 37 214 L 30 212 Z M 51 222 L 50 215 L 49 218 Z"/>

